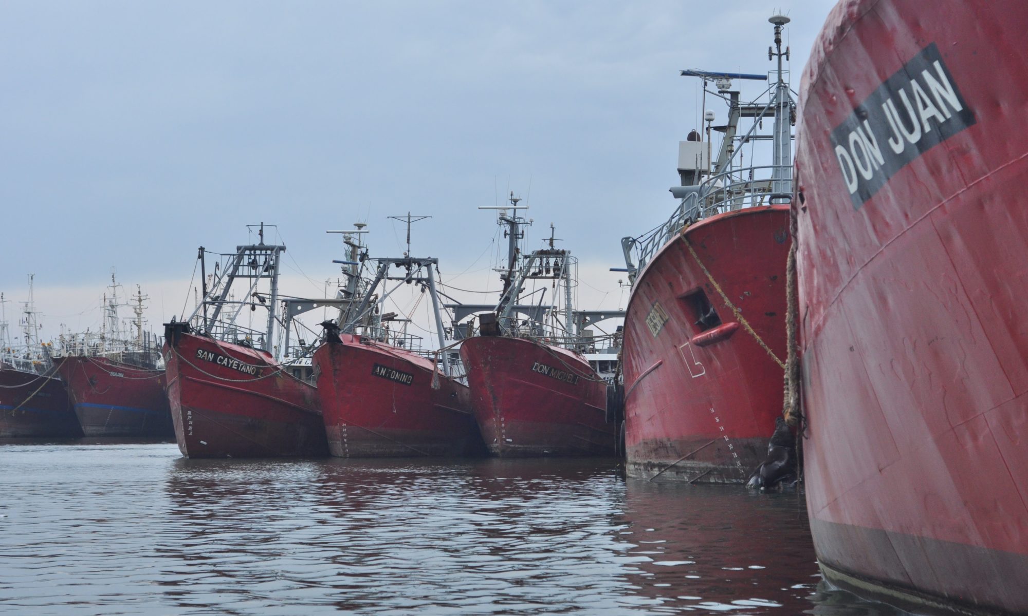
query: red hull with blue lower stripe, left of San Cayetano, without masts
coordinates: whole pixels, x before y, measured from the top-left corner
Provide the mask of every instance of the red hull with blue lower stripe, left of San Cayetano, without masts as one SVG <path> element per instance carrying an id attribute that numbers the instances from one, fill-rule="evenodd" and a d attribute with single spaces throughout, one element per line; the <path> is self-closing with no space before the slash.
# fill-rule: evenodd
<path id="1" fill-rule="evenodd" d="M 64 357 L 58 373 L 86 436 L 172 437 L 164 371 L 105 357 Z"/>

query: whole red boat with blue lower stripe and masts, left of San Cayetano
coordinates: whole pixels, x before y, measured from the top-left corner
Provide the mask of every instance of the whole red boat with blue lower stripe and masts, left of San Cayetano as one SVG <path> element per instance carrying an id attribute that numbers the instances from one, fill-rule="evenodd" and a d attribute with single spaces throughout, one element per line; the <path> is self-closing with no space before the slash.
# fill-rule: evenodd
<path id="1" fill-rule="evenodd" d="M 147 298 L 137 287 L 132 305 L 136 331 L 122 331 L 119 287 L 112 273 L 100 332 L 60 336 L 53 352 L 57 372 L 86 436 L 172 437 L 164 369 L 157 368 L 160 345 L 144 330 Z"/>

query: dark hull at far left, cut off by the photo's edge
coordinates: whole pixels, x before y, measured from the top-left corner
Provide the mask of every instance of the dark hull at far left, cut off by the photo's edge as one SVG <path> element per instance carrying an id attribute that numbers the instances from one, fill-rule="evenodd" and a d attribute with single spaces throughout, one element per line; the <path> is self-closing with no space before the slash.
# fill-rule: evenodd
<path id="1" fill-rule="evenodd" d="M 0 437 L 81 435 L 61 379 L 0 365 Z"/>

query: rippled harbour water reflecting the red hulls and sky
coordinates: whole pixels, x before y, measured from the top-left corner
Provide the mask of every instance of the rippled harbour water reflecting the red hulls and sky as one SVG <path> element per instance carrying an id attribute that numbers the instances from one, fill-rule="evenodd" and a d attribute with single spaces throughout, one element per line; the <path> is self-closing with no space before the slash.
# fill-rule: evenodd
<path id="1" fill-rule="evenodd" d="M 0 612 L 886 614 L 818 589 L 795 495 L 610 460 L 0 447 Z"/>

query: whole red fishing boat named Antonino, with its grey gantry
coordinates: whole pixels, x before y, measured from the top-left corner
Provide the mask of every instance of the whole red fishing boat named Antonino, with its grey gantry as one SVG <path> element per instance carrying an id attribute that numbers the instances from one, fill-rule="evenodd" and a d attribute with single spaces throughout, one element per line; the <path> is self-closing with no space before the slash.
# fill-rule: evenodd
<path id="1" fill-rule="evenodd" d="M 407 255 L 410 223 L 416 219 L 409 214 L 400 219 L 407 222 Z M 368 259 L 366 253 L 359 256 L 359 243 L 346 240 L 350 259 L 339 263 L 346 266 L 342 295 L 348 302 L 340 306 L 339 322 L 322 323 L 325 341 L 314 355 L 330 453 L 342 458 L 455 456 L 480 449 L 468 386 L 454 378 L 450 355 L 440 351 L 429 358 L 418 352 L 420 339 L 402 328 L 391 330 L 393 316 L 376 309 L 397 288 L 420 286 L 432 301 L 439 347 L 445 347 L 433 271 L 438 260 Z M 367 263 L 377 264 L 370 281 L 361 276 Z M 391 276 L 391 268 L 403 271 Z M 397 284 L 377 297 L 376 290 L 389 280 Z"/>

